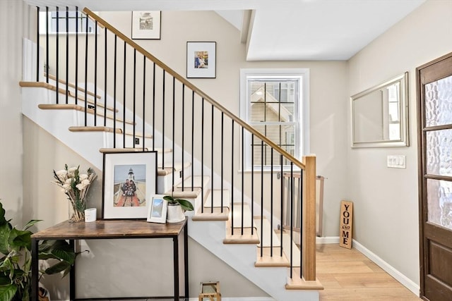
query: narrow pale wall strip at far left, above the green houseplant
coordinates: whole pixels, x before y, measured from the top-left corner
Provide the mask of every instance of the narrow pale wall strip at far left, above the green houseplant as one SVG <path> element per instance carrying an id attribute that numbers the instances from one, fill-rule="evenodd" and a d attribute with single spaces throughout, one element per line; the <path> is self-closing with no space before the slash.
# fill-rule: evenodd
<path id="1" fill-rule="evenodd" d="M 22 226 L 22 36 L 27 30 L 22 1 L 0 1 L 0 199 L 6 219 Z M 25 221 L 26 222 L 26 221 Z"/>

